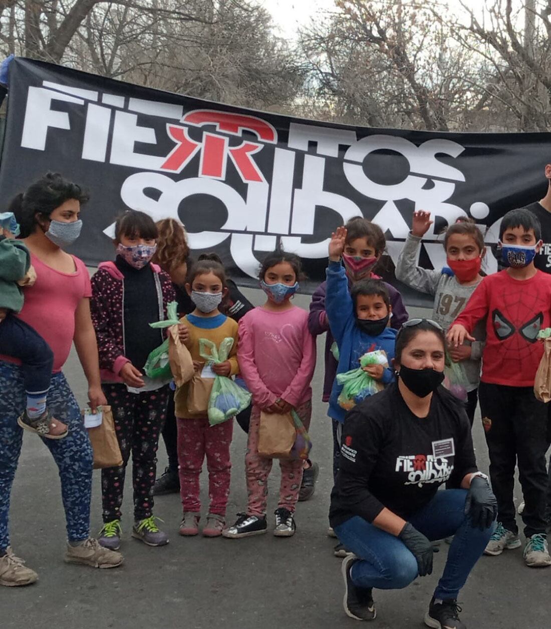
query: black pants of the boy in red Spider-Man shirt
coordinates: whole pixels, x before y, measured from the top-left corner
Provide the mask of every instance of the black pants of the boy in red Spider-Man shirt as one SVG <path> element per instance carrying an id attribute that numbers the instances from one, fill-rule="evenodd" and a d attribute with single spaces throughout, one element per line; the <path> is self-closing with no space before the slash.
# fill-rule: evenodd
<path id="1" fill-rule="evenodd" d="M 497 519 L 517 532 L 513 503 L 514 468 L 525 499 L 524 533 L 545 533 L 547 489 L 547 407 L 533 387 L 509 387 L 480 382 L 480 411 L 490 455 L 490 478 L 497 498 Z"/>

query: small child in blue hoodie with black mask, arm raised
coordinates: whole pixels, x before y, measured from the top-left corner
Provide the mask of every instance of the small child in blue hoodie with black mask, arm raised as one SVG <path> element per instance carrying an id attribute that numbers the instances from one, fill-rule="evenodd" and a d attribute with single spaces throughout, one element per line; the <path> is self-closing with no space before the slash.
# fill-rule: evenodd
<path id="1" fill-rule="evenodd" d="M 341 264 L 345 241 L 346 228 L 337 228 L 329 242 L 327 266 L 326 312 L 339 349 L 337 373 L 360 367 L 360 357 L 366 352 L 384 350 L 389 367 L 368 365 L 364 369 L 374 380 L 387 385 L 394 380 L 392 359 L 397 334 L 389 327 L 392 314 L 389 291 L 383 282 L 373 279 L 356 282 L 349 291 L 346 271 Z M 341 424 L 346 415 L 346 410 L 338 403 L 342 388 L 335 379 L 329 398 L 329 416 Z"/>

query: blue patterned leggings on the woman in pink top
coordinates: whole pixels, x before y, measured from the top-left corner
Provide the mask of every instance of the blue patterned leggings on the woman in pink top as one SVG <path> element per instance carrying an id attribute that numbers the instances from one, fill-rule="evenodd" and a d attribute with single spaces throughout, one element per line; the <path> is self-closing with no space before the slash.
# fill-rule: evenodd
<path id="1" fill-rule="evenodd" d="M 0 550 L 9 546 L 9 496 L 23 442 L 23 429 L 17 418 L 25 410 L 25 403 L 21 368 L 0 361 Z M 52 375 L 48 408 L 69 428 L 69 435 L 64 439 L 42 439 L 42 442 L 59 469 L 67 538 L 78 542 L 89 535 L 93 457 L 79 406 L 61 373 Z M 40 437 L 33 435 L 32 438 Z"/>

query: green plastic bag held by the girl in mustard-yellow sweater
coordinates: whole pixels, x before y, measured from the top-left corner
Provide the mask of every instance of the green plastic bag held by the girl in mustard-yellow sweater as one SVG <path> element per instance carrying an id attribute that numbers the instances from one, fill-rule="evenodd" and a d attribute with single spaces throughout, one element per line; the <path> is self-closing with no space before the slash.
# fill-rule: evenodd
<path id="1" fill-rule="evenodd" d="M 207 364 L 217 364 L 228 359 L 234 340 L 224 338 L 220 347 L 206 339 L 199 339 L 199 353 Z M 221 424 L 235 417 L 251 404 L 251 394 L 238 386 L 227 376 L 215 376 L 212 391 L 208 398 L 208 423 L 211 426 Z"/>

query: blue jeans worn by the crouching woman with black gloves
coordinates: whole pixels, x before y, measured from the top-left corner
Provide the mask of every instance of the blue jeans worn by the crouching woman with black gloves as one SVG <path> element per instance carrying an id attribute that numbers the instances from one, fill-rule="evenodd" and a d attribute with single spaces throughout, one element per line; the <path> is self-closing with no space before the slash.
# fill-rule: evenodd
<path id="1" fill-rule="evenodd" d="M 455 535 L 435 598 L 457 599 L 494 530 L 493 523 L 484 531 L 471 525 L 469 516 L 463 513 L 466 497 L 466 489 L 438 491 L 429 504 L 409 518 L 431 541 Z M 336 526 L 335 533 L 361 559 L 350 573 L 355 586 L 401 589 L 417 578 L 417 561 L 406 545 L 360 516 Z"/>

